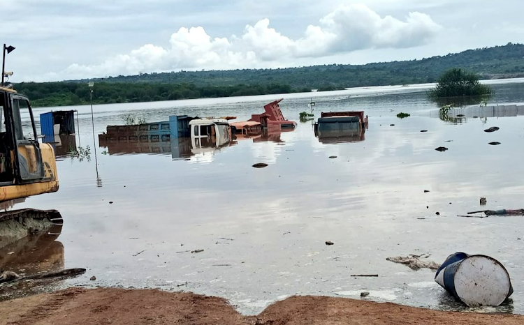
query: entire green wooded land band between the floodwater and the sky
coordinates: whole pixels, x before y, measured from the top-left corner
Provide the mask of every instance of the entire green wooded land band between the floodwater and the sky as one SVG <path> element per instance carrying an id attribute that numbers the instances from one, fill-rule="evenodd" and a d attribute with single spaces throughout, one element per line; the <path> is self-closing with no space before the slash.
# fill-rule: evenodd
<path id="1" fill-rule="evenodd" d="M 94 103 L 252 96 L 437 82 L 450 68 L 463 68 L 483 79 L 523 77 L 523 57 L 524 45 L 508 43 L 428 59 L 363 66 L 144 73 L 95 80 L 24 82 L 15 84 L 15 89 L 29 96 L 34 106 L 41 107 L 89 103 L 88 81 L 95 82 Z"/>

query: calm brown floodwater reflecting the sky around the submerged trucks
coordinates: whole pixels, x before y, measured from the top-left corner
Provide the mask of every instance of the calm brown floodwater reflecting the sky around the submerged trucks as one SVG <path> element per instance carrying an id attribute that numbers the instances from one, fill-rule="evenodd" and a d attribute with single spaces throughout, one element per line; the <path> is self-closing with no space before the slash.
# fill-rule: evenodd
<path id="1" fill-rule="evenodd" d="M 524 103 L 523 80 L 493 87 L 497 94 L 488 105 Z M 364 141 L 320 142 L 307 121 L 266 141 L 238 139 L 185 159 L 169 150 L 125 154 L 99 147 L 90 107 L 75 107 L 80 139 L 67 146 L 89 146 L 89 153 L 85 159 L 59 158 L 59 191 L 29 197 L 14 209 L 59 210 L 64 226 L 57 244 L 45 242 L 57 262 L 48 264 L 87 273 L 38 290 L 185 290 L 228 298 L 247 314 L 293 294 L 360 298 L 365 290 L 374 301 L 460 310 L 433 281 L 434 271 L 412 271 L 386 258 L 428 253 L 442 263 L 464 251 L 498 259 L 511 275 L 513 302 L 482 311 L 523 314 L 524 218 L 458 215 L 524 207 L 524 116 L 442 121 L 425 97 L 427 88 L 292 94 L 280 103 L 291 120 L 308 109 L 312 96 L 315 118 L 363 109 L 369 116 Z M 98 135 L 123 124 L 126 114 L 147 121 L 174 114 L 243 120 L 277 98 L 96 105 L 94 130 Z M 36 110 L 38 116 L 50 108 Z M 399 112 L 411 116 L 398 119 Z M 492 126 L 500 130 L 483 132 Z M 439 146 L 449 150 L 435 151 Z M 268 167 L 253 168 L 257 162 Z M 480 197 L 487 198 L 486 206 L 479 205 Z M 15 255 L 9 259 L 13 271 L 50 261 L 44 252 L 29 261 L 30 248 L 8 253 L 0 256 Z M 31 270 L 40 269 L 26 272 Z"/>

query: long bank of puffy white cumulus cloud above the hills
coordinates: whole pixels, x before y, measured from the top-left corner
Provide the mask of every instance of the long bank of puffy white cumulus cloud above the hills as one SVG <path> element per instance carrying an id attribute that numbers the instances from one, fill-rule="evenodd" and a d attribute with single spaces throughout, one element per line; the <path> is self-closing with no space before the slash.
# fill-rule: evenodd
<path id="1" fill-rule="evenodd" d="M 178 69 L 259 68 L 283 59 L 318 58 L 372 48 L 424 45 L 441 29 L 429 15 L 409 13 L 405 20 L 381 17 L 362 4 L 342 5 L 293 40 L 265 18 L 247 25 L 240 37 L 212 38 L 203 27 L 180 28 L 168 47 L 147 44 L 94 65 L 68 66 L 66 78 L 101 77 Z"/>

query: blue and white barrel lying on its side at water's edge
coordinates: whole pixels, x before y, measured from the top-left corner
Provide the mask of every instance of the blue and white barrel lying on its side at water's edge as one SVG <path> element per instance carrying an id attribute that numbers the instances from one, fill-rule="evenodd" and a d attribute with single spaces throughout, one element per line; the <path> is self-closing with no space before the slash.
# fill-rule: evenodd
<path id="1" fill-rule="evenodd" d="M 513 294 L 507 270 L 485 255 L 450 255 L 437 271 L 435 281 L 470 307 L 497 306 Z"/>

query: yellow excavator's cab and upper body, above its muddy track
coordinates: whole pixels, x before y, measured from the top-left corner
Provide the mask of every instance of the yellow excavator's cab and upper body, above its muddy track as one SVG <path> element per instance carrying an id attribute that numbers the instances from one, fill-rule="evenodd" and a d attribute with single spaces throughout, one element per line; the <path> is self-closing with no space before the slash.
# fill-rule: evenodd
<path id="1" fill-rule="evenodd" d="M 22 114 L 28 113 L 32 135 L 24 135 Z M 58 190 L 53 148 L 37 134 L 29 99 L 0 87 L 0 202 Z"/>

